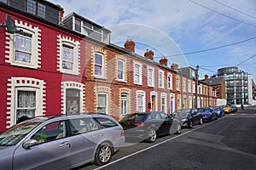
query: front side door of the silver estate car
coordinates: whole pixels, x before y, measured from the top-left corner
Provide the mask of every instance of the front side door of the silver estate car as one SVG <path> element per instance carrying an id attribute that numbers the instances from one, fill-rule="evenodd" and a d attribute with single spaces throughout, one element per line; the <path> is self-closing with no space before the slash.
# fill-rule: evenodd
<path id="1" fill-rule="evenodd" d="M 65 121 L 44 124 L 28 138 L 37 144 L 28 149 L 20 144 L 15 150 L 14 169 L 67 169 L 70 144 L 66 130 Z"/>

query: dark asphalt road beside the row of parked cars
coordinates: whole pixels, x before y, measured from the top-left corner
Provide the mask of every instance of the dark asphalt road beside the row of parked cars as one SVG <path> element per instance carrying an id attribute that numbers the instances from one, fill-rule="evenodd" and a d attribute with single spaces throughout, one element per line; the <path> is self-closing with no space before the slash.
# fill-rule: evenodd
<path id="1" fill-rule="evenodd" d="M 256 110 L 239 111 L 154 144 L 126 143 L 103 167 L 79 169 L 256 169 Z"/>

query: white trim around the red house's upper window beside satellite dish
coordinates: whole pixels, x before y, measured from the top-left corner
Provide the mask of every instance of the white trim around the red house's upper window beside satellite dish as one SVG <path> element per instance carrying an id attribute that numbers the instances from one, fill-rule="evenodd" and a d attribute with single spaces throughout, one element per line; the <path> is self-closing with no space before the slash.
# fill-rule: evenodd
<path id="1" fill-rule="evenodd" d="M 6 32 L 6 51 L 5 62 L 10 65 L 17 65 L 22 67 L 28 67 L 38 69 L 41 67 L 41 30 L 38 27 L 29 25 L 23 21 L 15 20 L 15 26 L 18 30 L 25 31 L 32 34 L 32 58 L 31 63 L 25 63 L 15 61 L 15 34 L 9 34 Z"/>

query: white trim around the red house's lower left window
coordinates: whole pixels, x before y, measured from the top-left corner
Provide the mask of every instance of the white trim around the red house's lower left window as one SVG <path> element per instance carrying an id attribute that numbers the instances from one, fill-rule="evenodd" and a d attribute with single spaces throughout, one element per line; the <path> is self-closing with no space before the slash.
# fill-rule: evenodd
<path id="1" fill-rule="evenodd" d="M 45 82 L 43 80 L 38 80 L 30 77 L 11 77 L 8 79 L 8 85 L 10 88 L 7 89 L 7 128 L 15 125 L 16 122 L 16 95 L 17 90 L 26 89 L 36 91 L 37 95 L 37 106 L 35 116 L 43 116 L 45 113 Z"/>

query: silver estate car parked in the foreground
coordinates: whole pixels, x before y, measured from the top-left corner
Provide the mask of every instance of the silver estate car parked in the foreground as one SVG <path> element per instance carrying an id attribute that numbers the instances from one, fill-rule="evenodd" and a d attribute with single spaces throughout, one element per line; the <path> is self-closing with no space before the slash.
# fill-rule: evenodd
<path id="1" fill-rule="evenodd" d="M 0 169 L 70 169 L 107 164 L 125 143 L 106 115 L 40 116 L 0 133 Z"/>

